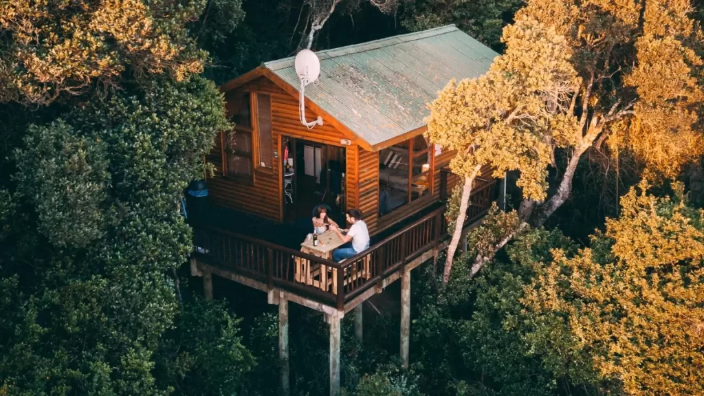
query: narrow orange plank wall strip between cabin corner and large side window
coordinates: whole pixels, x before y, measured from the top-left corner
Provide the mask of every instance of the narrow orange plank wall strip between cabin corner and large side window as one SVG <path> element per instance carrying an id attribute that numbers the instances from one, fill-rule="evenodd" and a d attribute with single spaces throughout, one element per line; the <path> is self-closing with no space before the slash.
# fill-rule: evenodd
<path id="1" fill-rule="evenodd" d="M 359 209 L 369 233 L 373 234 L 379 219 L 379 152 L 359 149 L 358 162 Z"/>

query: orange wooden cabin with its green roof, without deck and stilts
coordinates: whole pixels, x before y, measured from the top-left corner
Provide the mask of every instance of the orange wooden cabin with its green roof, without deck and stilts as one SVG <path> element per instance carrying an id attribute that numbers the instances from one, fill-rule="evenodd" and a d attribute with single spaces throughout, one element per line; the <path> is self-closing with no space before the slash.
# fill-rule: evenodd
<path id="1" fill-rule="evenodd" d="M 317 54 L 306 118 L 323 124 L 312 129 L 299 120 L 294 58 L 222 85 L 236 126 L 208 156 L 210 200 L 282 223 L 310 223 L 320 203 L 336 221 L 358 208 L 372 234 L 437 202 L 453 152 L 423 136 L 427 104 L 452 78 L 482 75 L 496 53 L 446 26 Z"/>

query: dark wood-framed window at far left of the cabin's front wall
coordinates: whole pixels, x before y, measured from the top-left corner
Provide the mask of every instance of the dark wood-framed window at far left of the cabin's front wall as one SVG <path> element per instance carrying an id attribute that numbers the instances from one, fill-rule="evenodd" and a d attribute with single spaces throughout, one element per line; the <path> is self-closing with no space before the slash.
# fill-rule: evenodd
<path id="1" fill-rule="evenodd" d="M 239 178 L 252 177 L 252 112 L 249 92 L 228 98 L 234 129 L 224 134 L 225 174 Z"/>

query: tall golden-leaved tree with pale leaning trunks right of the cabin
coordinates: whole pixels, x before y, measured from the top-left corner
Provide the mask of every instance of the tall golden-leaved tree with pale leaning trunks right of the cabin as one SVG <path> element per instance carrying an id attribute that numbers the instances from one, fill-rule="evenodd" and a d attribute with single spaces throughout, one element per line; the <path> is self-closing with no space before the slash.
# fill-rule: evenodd
<path id="1" fill-rule="evenodd" d="M 482 165 L 494 166 L 495 176 L 520 171 L 524 200 L 515 227 L 478 252 L 471 276 L 570 197 L 588 149 L 630 149 L 651 173 L 666 176 L 704 152 L 702 32 L 689 11 L 687 1 L 532 0 L 505 28 L 506 53 L 489 73 L 441 92 L 429 137 L 460 151 L 451 168 L 465 177 L 465 191 Z M 547 168 L 556 167 L 557 150 L 566 153 L 567 165 L 557 169 L 548 197 Z"/>

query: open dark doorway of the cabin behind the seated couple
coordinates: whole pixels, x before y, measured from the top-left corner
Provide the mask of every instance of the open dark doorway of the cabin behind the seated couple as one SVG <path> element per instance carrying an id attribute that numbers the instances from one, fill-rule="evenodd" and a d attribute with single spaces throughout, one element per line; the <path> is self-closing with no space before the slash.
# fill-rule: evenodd
<path id="1" fill-rule="evenodd" d="M 284 221 L 312 228 L 313 209 L 326 204 L 329 216 L 344 222 L 344 147 L 293 137 L 284 137 L 282 144 Z"/>

